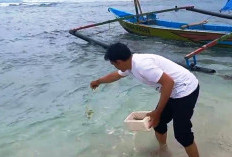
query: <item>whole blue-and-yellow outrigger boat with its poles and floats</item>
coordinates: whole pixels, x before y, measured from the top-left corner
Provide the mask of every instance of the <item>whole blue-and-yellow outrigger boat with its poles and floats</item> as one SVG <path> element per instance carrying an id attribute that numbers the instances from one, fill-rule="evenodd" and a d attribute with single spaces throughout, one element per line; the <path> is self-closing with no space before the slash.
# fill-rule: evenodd
<path id="1" fill-rule="evenodd" d="M 224 46 L 226 45 L 229 47 L 232 46 L 232 26 L 207 25 L 207 21 L 187 24 L 181 22 L 162 21 L 156 18 L 157 14 L 178 10 L 188 10 L 226 19 L 232 19 L 231 15 L 200 10 L 196 9 L 194 6 L 175 6 L 174 8 L 170 9 L 142 13 L 139 1 L 134 0 L 134 4 L 136 10 L 135 15 L 114 8 L 109 8 L 109 11 L 116 16 L 116 19 L 74 28 L 71 29 L 69 33 L 87 42 L 95 43 L 103 48 L 108 48 L 109 45 L 107 45 L 105 42 L 94 40 L 78 31 L 112 22 L 119 22 L 126 31 L 137 35 L 157 36 L 160 38 L 206 43 L 199 49 L 184 56 L 182 62 L 177 62 L 191 71 L 199 71 L 204 73 L 215 73 L 216 71 L 214 69 L 197 66 L 197 54 L 217 44 Z M 228 9 L 232 9 L 232 0 L 228 0 L 227 4 L 222 10 Z M 191 58 L 193 59 L 190 61 Z"/>

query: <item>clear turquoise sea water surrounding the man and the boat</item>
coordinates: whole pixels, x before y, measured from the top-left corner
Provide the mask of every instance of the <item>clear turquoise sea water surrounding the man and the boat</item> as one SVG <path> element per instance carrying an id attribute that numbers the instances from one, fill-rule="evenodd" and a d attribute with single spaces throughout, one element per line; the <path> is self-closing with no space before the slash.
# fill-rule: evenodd
<path id="1" fill-rule="evenodd" d="M 225 1 L 141 3 L 147 11 L 187 4 L 218 10 Z M 158 147 L 153 133 L 130 132 L 123 121 L 133 111 L 152 110 L 158 93 L 131 77 L 92 91 L 92 80 L 115 69 L 104 61 L 104 49 L 68 33 L 74 27 L 112 19 L 108 7 L 133 12 L 133 3 L 22 2 L 0 7 L 0 156 L 149 156 Z M 209 18 L 180 14 L 162 16 L 189 21 Z M 221 22 L 212 17 L 210 21 Z M 118 23 L 82 33 L 106 43 L 121 41 L 134 52 L 157 53 L 173 60 L 181 60 L 200 46 L 138 37 Z M 193 117 L 201 156 L 232 154 L 232 80 L 225 77 L 232 75 L 231 52 L 231 48 L 212 48 L 198 57 L 199 65 L 217 70 L 214 75 L 194 73 L 201 85 Z M 90 110 L 94 113 L 88 116 Z M 173 137 L 171 124 L 169 128 L 173 156 L 186 156 Z"/>

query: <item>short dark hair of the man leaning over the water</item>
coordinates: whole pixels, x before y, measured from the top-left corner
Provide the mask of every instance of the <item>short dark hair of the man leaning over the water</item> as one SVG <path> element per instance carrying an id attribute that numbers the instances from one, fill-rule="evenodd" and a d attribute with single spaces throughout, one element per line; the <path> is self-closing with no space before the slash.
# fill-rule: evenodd
<path id="1" fill-rule="evenodd" d="M 122 43 L 115 43 L 110 45 L 105 54 L 105 60 L 116 61 L 123 60 L 126 61 L 131 57 L 130 49 Z"/>

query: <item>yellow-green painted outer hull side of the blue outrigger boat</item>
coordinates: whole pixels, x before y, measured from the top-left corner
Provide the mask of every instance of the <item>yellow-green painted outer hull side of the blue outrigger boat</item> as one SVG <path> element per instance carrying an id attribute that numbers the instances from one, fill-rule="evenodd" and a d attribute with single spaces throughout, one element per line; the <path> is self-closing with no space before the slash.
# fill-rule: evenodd
<path id="1" fill-rule="evenodd" d="M 179 28 L 159 26 L 156 24 L 154 25 L 138 24 L 137 22 L 132 22 L 132 20 L 123 20 L 123 21 L 119 21 L 119 23 L 129 33 L 133 33 L 141 36 L 154 36 L 163 39 L 182 40 L 182 41 L 191 41 L 191 42 L 199 42 L 199 43 L 208 43 L 227 33 L 230 33 L 229 31 L 226 32 L 226 31 L 197 30 L 197 29 L 179 29 Z M 173 23 L 176 24 L 175 22 Z M 228 29 L 228 26 L 225 28 Z M 232 27 L 230 29 L 232 29 Z M 221 46 L 222 45 L 232 46 L 232 38 L 230 37 L 224 41 L 219 41 L 218 44 Z"/>

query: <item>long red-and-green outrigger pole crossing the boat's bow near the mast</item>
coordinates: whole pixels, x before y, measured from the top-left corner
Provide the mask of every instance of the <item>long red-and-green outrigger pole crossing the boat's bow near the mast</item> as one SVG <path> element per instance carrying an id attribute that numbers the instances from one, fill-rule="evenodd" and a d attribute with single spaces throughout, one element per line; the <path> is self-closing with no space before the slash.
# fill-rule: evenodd
<path id="1" fill-rule="evenodd" d="M 144 16 L 144 15 L 149 15 L 149 14 L 158 14 L 158 13 L 164 13 L 164 12 L 169 12 L 169 11 L 177 11 L 177 10 L 193 8 L 193 7 L 194 6 L 185 6 L 185 7 L 177 7 L 176 6 L 175 8 L 171 8 L 171 9 L 152 11 L 152 12 L 142 13 L 142 14 L 138 14 L 138 15 L 139 16 Z M 87 25 L 87 26 L 81 26 L 81 27 L 78 27 L 78 28 L 71 29 L 69 32 L 71 33 L 71 32 L 79 31 L 79 30 L 86 29 L 86 28 L 91 28 L 91 27 L 104 25 L 104 24 L 107 24 L 107 23 L 112 23 L 112 22 L 117 22 L 117 21 L 130 19 L 130 18 L 133 18 L 133 17 L 136 17 L 136 15 L 129 15 L 129 16 L 125 16 L 125 17 L 116 18 L 116 19 L 113 19 L 113 20 L 108 20 L 108 21 L 104 21 L 104 22 L 100 22 L 100 23 L 90 24 L 90 25 Z"/>

